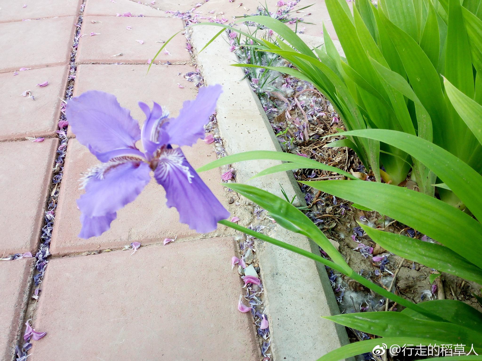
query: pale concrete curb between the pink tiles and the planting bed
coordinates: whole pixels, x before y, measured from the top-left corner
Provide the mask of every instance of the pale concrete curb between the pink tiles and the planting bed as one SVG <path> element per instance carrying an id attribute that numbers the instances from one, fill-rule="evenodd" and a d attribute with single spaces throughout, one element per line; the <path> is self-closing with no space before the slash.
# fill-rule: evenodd
<path id="1" fill-rule="evenodd" d="M 191 43 L 195 50 L 219 31 L 214 26 L 193 28 Z M 217 38 L 197 54 L 207 85 L 221 84 L 224 92 L 217 104 L 217 122 L 229 155 L 253 150 L 281 151 L 261 103 L 251 90 L 237 62 L 229 52 L 227 40 Z M 241 111 L 242 110 L 242 111 Z M 257 160 L 236 164 L 237 181 L 281 195 L 281 186 L 291 198 L 304 199 L 293 174 L 276 173 L 248 181 L 257 172 L 280 164 Z M 308 238 L 275 226 L 270 236 L 297 245 L 313 253 L 318 246 Z M 271 332 L 271 350 L 275 361 L 317 360 L 327 352 L 348 344 L 343 326 L 320 316 L 338 314 L 338 306 L 323 265 L 280 247 L 256 244 Z"/>

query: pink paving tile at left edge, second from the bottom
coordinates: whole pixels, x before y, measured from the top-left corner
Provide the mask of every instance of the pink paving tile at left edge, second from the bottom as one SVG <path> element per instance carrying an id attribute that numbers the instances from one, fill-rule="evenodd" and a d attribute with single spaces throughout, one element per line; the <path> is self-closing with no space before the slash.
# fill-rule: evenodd
<path id="1" fill-rule="evenodd" d="M 0 143 L 0 255 L 34 252 L 39 240 L 57 139 Z"/>

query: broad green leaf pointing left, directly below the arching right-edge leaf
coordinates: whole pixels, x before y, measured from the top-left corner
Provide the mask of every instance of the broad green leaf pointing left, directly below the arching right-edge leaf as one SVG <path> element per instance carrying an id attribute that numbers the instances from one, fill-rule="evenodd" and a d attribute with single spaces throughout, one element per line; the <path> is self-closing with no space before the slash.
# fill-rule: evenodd
<path id="1" fill-rule="evenodd" d="M 301 183 L 397 219 L 482 268 L 481 224 L 439 199 L 407 188 L 368 181 Z"/>

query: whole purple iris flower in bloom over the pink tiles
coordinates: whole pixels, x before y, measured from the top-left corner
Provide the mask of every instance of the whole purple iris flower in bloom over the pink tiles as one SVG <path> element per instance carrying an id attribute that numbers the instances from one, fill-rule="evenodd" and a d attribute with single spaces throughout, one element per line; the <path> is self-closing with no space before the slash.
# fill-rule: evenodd
<path id="1" fill-rule="evenodd" d="M 180 148 L 204 137 L 203 125 L 214 113 L 221 92 L 220 85 L 200 88 L 197 98 L 184 102 L 175 119 L 168 118 L 158 103 L 150 109 L 139 102 L 146 114 L 142 130 L 112 94 L 91 90 L 68 101 L 66 116 L 73 133 L 102 162 L 81 180 L 85 194 L 77 200 L 82 223 L 79 237 L 106 232 L 117 211 L 134 201 L 149 183 L 151 170 L 166 191 L 166 205 L 176 207 L 179 221 L 190 229 L 212 232 L 218 220 L 229 217 Z M 135 145 L 138 140 L 144 153 Z"/>

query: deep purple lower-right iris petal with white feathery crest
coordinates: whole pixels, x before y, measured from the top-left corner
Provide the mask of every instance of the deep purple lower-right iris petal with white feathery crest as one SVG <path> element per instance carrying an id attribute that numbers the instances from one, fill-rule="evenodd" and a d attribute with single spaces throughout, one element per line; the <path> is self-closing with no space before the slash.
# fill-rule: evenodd
<path id="1" fill-rule="evenodd" d="M 199 233 L 212 232 L 229 212 L 216 199 L 180 148 L 163 151 L 154 178 L 166 190 L 166 205 L 176 207 L 179 221 Z"/>

